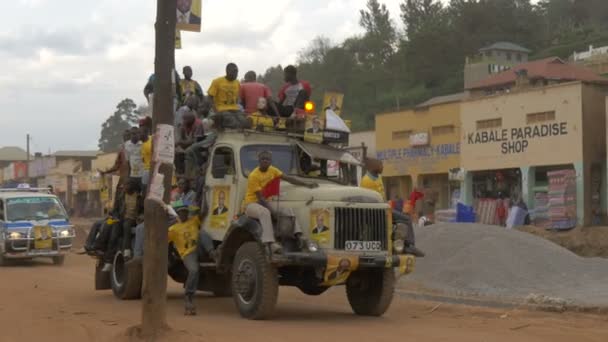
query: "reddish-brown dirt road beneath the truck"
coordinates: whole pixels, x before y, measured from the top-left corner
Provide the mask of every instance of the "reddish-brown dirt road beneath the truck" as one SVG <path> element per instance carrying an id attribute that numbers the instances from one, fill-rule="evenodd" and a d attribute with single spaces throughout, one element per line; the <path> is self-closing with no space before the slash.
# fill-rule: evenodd
<path id="1" fill-rule="evenodd" d="M 93 260 L 70 255 L 0 268 L 1 341 L 124 340 L 140 320 L 138 301 L 93 291 Z M 180 287 L 169 284 L 169 324 L 184 341 L 597 341 L 608 317 L 485 309 L 398 297 L 382 318 L 351 314 L 343 289 L 308 297 L 281 289 L 273 321 L 239 318 L 232 299 L 200 294 L 199 316 L 182 316 Z M 433 311 L 433 308 L 435 310 Z M 431 312 L 432 311 L 432 312 Z"/>

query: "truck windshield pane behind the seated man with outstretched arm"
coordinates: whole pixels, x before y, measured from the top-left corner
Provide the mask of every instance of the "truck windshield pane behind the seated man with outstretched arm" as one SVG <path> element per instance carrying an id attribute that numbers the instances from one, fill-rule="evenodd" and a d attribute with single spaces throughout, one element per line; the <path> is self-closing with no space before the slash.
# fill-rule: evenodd
<path id="1" fill-rule="evenodd" d="M 295 149 L 289 145 L 247 145 L 241 149 L 241 167 L 245 177 L 258 167 L 258 154 L 272 152 L 272 165 L 284 174 L 297 174 Z"/>

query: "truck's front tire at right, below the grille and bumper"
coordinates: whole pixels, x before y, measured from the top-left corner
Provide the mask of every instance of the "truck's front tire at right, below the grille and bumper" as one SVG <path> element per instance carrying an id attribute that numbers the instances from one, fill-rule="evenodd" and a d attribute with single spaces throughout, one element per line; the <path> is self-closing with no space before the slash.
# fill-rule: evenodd
<path id="1" fill-rule="evenodd" d="M 353 312 L 360 316 L 382 316 L 393 300 L 393 269 L 356 271 L 346 282 L 346 296 Z"/>

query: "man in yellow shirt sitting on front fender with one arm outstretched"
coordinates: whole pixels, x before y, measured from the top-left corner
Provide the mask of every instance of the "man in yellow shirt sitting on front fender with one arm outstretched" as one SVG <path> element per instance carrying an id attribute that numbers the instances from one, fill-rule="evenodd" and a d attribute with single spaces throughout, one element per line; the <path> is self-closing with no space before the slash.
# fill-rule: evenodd
<path id="1" fill-rule="evenodd" d="M 284 180 L 296 186 L 306 186 L 309 188 L 316 188 L 318 184 L 303 182 L 295 177 L 291 177 L 283 174 L 281 170 L 272 166 L 272 153 L 270 151 L 263 151 L 258 155 L 259 166 L 256 167 L 247 179 L 247 193 L 245 194 L 245 215 L 250 218 L 260 220 L 262 225 L 262 243 L 268 246 L 270 253 L 280 254 L 282 253 L 282 247 L 274 239 L 274 229 L 272 228 L 272 213 L 280 210 L 271 206 L 268 199 L 264 196 L 264 189 L 274 180 Z M 286 216 L 293 216 L 293 213 L 285 213 Z M 295 236 L 299 240 L 302 235 L 302 231 L 295 221 Z"/>

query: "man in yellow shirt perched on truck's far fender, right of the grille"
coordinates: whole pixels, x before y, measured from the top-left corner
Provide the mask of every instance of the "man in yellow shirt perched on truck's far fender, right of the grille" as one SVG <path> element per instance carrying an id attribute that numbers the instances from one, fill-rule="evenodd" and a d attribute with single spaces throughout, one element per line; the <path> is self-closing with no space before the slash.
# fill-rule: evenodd
<path id="1" fill-rule="evenodd" d="M 373 190 L 382 196 L 386 201 L 386 193 L 384 192 L 384 183 L 382 182 L 382 171 L 384 169 L 382 162 L 378 159 L 369 158 L 365 161 L 367 173 L 361 178 L 361 187 Z M 417 257 L 423 257 L 424 252 L 416 248 L 416 238 L 414 236 L 414 228 L 411 219 L 402 213 L 393 210 L 393 222 L 403 223 L 407 229 L 407 237 L 405 240 L 405 251 L 408 254 L 413 254 Z"/>

